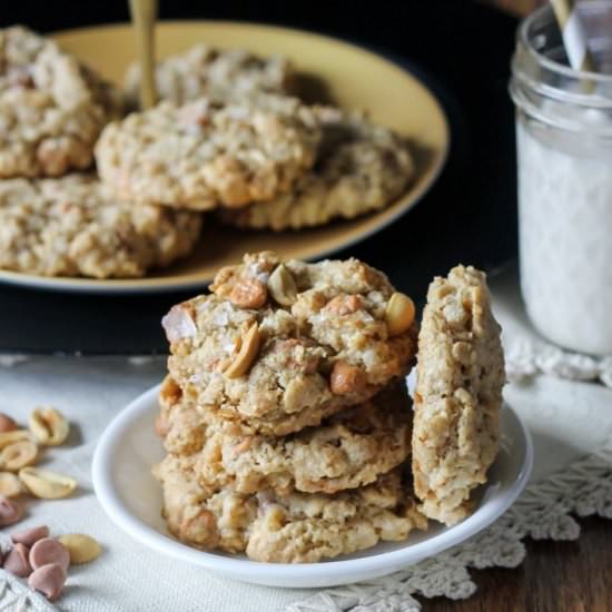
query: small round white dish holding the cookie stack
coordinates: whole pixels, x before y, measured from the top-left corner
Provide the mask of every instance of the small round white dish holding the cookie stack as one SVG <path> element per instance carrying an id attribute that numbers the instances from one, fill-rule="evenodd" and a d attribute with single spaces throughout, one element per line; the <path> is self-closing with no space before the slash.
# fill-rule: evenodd
<path id="1" fill-rule="evenodd" d="M 501 413 L 502 443 L 488 483 L 477 491 L 477 510 L 460 524 L 434 522 L 404 542 L 377 546 L 323 563 L 280 564 L 244 555 L 207 553 L 175 540 L 161 519 L 161 492 L 151 465 L 164 450 L 154 433 L 158 387 L 127 406 L 103 433 L 93 456 L 93 486 L 109 517 L 142 544 L 228 578 L 272 586 L 332 586 L 382 576 L 448 549 L 483 530 L 516 500 L 533 463 L 529 433 L 507 406 Z"/>

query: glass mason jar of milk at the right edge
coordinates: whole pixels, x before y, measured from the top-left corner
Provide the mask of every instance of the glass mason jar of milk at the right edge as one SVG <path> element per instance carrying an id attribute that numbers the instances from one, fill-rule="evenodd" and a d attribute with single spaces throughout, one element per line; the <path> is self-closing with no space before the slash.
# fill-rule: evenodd
<path id="1" fill-rule="evenodd" d="M 598 73 L 567 66 L 550 6 L 517 31 L 521 290 L 544 337 L 612 355 L 612 0 L 579 12 Z"/>

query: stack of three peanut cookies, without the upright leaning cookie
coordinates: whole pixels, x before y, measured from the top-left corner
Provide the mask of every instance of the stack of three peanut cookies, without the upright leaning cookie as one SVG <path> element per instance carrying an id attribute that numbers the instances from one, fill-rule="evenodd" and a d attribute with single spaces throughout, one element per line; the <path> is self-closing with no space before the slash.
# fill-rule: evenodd
<path id="1" fill-rule="evenodd" d="M 314 562 L 425 529 L 403 468 L 412 300 L 356 260 L 247 255 L 164 318 L 157 423 L 179 540 Z"/>

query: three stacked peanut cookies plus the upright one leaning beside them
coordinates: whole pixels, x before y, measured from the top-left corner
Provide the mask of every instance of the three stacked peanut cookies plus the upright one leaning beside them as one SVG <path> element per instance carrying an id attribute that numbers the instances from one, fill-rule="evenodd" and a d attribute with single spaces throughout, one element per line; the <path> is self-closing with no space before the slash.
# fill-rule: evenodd
<path id="1" fill-rule="evenodd" d="M 154 473 L 174 535 L 316 562 L 473 512 L 504 384 L 483 273 L 434 279 L 418 343 L 412 300 L 356 259 L 247 255 L 210 289 L 162 322 L 167 456 Z"/>

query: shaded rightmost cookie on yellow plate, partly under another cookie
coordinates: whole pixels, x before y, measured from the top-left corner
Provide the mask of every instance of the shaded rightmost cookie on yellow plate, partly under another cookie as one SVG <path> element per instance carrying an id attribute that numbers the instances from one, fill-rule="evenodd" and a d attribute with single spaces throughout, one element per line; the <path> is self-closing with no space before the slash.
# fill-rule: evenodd
<path id="1" fill-rule="evenodd" d="M 287 194 L 220 210 L 223 221 L 276 231 L 300 229 L 379 210 L 404 193 L 414 164 L 399 136 L 354 112 L 318 108 L 315 113 L 323 137 L 310 171 Z"/>

